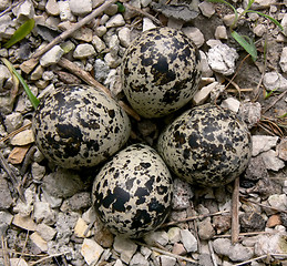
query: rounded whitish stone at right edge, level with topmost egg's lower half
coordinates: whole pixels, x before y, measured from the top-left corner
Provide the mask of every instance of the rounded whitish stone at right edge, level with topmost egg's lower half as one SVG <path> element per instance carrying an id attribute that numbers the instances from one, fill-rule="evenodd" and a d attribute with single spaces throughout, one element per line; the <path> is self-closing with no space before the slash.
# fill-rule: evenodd
<path id="1" fill-rule="evenodd" d="M 276 71 L 267 72 L 263 78 L 263 84 L 267 91 L 284 92 L 287 90 L 287 80 Z"/>

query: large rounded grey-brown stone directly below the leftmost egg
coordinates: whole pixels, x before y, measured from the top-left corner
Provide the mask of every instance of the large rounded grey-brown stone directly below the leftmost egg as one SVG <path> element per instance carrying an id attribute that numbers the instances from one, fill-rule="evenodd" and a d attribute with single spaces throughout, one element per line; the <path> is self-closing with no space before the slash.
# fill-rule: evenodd
<path id="1" fill-rule="evenodd" d="M 54 197 L 71 197 L 78 192 L 84 190 L 84 184 L 80 175 L 70 170 L 58 168 L 49 175 L 45 175 L 42 183 L 48 194 Z"/>

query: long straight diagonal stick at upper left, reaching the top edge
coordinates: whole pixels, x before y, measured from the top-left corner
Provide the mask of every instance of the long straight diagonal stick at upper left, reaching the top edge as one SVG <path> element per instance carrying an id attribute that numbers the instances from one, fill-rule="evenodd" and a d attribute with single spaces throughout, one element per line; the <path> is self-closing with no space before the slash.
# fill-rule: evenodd
<path id="1" fill-rule="evenodd" d="M 59 37 L 57 37 L 53 41 L 51 41 L 49 44 L 47 44 L 44 48 L 35 52 L 32 58 L 37 59 L 48 52 L 51 48 L 53 48 L 55 44 L 64 41 L 68 37 L 70 37 L 73 32 L 89 23 L 92 19 L 100 16 L 105 9 L 107 9 L 112 3 L 116 2 L 116 0 L 106 0 L 100 8 L 95 9 L 92 13 L 84 17 L 82 20 L 80 20 L 78 23 L 74 24 L 71 29 L 64 31 Z"/>

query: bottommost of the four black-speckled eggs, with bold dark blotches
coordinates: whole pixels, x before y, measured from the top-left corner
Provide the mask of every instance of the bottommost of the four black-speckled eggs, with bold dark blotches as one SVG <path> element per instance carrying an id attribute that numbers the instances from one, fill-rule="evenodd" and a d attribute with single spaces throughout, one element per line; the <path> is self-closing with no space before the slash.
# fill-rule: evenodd
<path id="1" fill-rule="evenodd" d="M 99 217 L 111 232 L 136 238 L 157 228 L 168 215 L 172 177 L 152 147 L 133 144 L 102 167 L 93 197 Z"/>

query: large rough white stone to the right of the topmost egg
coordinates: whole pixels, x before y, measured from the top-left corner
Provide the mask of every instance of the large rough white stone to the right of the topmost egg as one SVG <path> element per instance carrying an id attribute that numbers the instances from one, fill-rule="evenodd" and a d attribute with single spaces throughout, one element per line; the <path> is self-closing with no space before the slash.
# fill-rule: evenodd
<path id="1" fill-rule="evenodd" d="M 238 57 L 236 50 L 226 44 L 215 45 L 207 53 L 212 70 L 224 75 L 230 75 L 235 72 L 235 61 Z"/>

